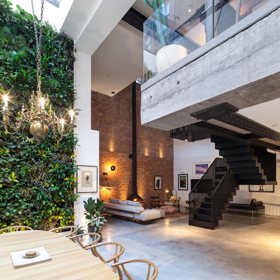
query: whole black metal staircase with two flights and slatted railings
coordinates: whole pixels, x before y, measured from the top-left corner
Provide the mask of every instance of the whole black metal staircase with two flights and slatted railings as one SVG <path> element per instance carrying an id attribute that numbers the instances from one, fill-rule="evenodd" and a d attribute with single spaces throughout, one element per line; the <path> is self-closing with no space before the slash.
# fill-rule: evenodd
<path id="1" fill-rule="evenodd" d="M 215 135 L 216 158 L 189 193 L 189 225 L 214 229 L 239 185 L 277 185 L 276 155 L 267 149 Z"/>

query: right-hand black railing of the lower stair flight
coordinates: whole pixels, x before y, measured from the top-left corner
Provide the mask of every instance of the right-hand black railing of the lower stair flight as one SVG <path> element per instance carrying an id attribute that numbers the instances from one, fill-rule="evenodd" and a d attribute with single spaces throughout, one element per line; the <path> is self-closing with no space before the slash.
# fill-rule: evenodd
<path id="1" fill-rule="evenodd" d="M 228 170 L 211 195 L 211 223 L 217 222 L 217 217 L 221 215 L 221 210 L 225 210 L 225 204 L 229 203 L 228 199 L 232 197 L 236 187 L 237 180 L 234 180 L 234 175 Z"/>

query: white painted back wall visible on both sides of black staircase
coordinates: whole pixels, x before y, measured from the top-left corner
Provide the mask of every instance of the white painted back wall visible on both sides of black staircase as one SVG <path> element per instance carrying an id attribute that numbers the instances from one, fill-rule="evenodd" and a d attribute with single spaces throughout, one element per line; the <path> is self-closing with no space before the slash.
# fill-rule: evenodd
<path id="1" fill-rule="evenodd" d="M 192 142 L 185 142 L 174 139 L 174 189 L 177 195 L 181 196 L 180 204 L 184 204 L 188 200 L 191 179 L 193 177 L 193 163 L 200 161 L 213 161 L 219 156 L 219 151 L 215 150 L 215 144 L 211 143 L 210 139 Z M 280 184 L 280 154 L 276 155 L 276 178 Z M 188 174 L 188 191 L 178 191 L 178 174 Z M 280 186 L 275 185 L 274 193 L 267 192 L 249 192 L 248 185 L 240 185 L 239 191 L 233 198 L 233 203 L 249 203 L 252 198 L 261 200 L 265 205 L 265 211 L 260 211 L 261 214 L 280 215 Z M 181 206 L 181 210 L 185 208 Z"/>

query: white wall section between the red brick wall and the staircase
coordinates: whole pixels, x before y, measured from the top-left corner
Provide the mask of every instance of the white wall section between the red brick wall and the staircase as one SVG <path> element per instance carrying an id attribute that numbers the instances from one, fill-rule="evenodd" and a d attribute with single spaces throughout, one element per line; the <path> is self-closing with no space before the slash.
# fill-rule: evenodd
<path id="1" fill-rule="evenodd" d="M 191 179 L 199 179 L 193 177 L 193 163 L 201 161 L 213 161 L 219 157 L 219 151 L 215 150 L 215 144 L 210 139 L 204 139 L 195 142 L 185 142 L 174 139 L 174 189 L 177 195 L 181 196 L 180 204 L 185 204 L 185 200 L 189 200 L 189 192 L 191 189 Z M 178 190 L 178 174 L 188 174 L 188 190 Z M 181 206 L 180 210 L 185 211 L 185 207 Z"/>

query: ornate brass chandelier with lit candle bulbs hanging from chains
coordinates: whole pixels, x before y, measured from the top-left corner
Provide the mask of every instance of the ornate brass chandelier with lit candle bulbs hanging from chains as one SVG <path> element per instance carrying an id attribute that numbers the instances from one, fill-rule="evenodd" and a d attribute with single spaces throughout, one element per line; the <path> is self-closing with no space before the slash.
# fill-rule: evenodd
<path id="1" fill-rule="evenodd" d="M 59 119 L 55 112 L 52 113 L 51 105 L 46 111 L 45 107 L 49 105 L 50 100 L 48 95 L 44 98 L 41 92 L 41 38 L 42 38 L 42 24 L 43 24 L 43 10 L 44 10 L 44 0 L 42 0 L 41 6 L 41 21 L 40 21 L 40 32 L 39 40 L 37 36 L 36 28 L 36 19 L 34 14 L 33 0 L 31 0 L 32 13 L 33 13 L 33 22 L 34 22 L 34 32 L 37 46 L 37 91 L 34 94 L 32 91 L 31 98 L 29 100 L 29 108 L 24 108 L 22 104 L 21 112 L 18 112 L 18 117 L 16 117 L 14 124 L 12 124 L 11 117 L 13 113 L 10 112 L 8 106 L 8 95 L 5 93 L 3 96 L 4 106 L 3 110 L 0 111 L 0 115 L 3 115 L 1 124 L 4 126 L 4 129 L 9 134 L 16 134 L 21 127 L 24 127 L 29 123 L 29 131 L 36 138 L 38 142 L 42 138 L 48 135 L 49 126 L 52 129 L 53 137 L 56 141 L 61 141 L 63 137 L 67 137 L 76 127 L 74 124 L 74 111 L 70 110 L 70 121 L 68 122 L 64 118 Z M 11 129 L 12 131 L 9 131 Z M 57 134 L 60 136 L 57 137 Z"/>

